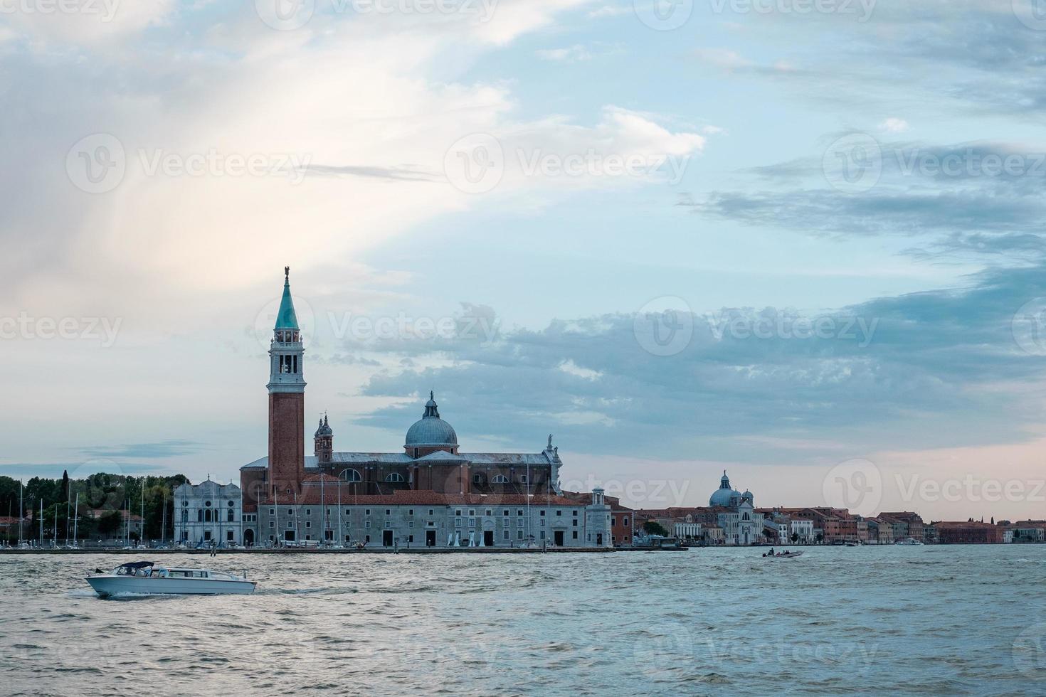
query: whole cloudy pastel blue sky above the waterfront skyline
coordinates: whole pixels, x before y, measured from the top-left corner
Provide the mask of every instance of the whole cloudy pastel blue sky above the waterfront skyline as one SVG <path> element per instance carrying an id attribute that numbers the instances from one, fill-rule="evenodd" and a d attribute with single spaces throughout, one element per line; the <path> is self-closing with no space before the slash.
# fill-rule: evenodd
<path id="1" fill-rule="evenodd" d="M 0 0 L 0 473 L 236 479 L 289 265 L 337 450 L 1046 518 L 1040 0 Z"/>

